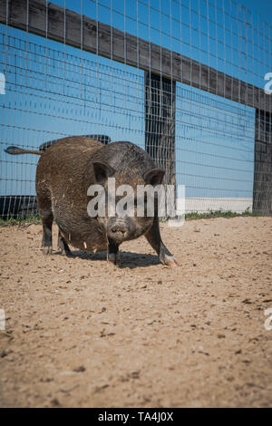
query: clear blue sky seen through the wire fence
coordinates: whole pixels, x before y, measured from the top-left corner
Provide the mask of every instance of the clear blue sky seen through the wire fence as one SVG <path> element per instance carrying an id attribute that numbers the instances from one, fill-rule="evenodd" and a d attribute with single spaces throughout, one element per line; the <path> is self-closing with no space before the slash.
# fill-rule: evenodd
<path id="1" fill-rule="evenodd" d="M 254 5 L 267 20 L 272 17 L 267 1 L 241 3 Z M 65 5 L 259 87 L 272 71 L 267 25 L 230 1 L 224 2 L 225 15 L 219 0 L 209 0 L 208 9 L 207 0 L 142 0 L 138 7 L 112 0 L 112 12 L 111 0 L 66 0 Z M 0 25 L 0 72 L 7 81 L 6 94 L 0 95 L 1 195 L 34 194 L 37 158 L 7 156 L 6 145 L 37 147 L 66 135 L 103 133 L 144 148 L 141 70 L 12 28 L 8 34 L 6 51 L 5 25 Z M 251 197 L 254 114 L 177 83 L 176 173 L 188 197 Z"/>

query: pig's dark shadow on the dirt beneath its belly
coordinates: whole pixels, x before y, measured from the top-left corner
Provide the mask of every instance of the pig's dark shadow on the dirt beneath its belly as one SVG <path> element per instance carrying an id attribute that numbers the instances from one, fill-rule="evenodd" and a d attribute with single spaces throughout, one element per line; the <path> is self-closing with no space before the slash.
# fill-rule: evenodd
<path id="1" fill-rule="evenodd" d="M 107 253 L 105 251 L 92 253 L 92 252 L 75 250 L 72 253 L 73 253 L 73 258 L 80 257 L 81 259 L 84 259 L 84 260 L 92 260 L 92 261 L 103 260 L 105 262 L 107 261 Z M 60 254 L 61 252 L 55 253 L 55 255 L 60 255 Z M 120 257 L 121 257 L 121 262 L 119 265 L 120 268 L 129 267 L 131 269 L 134 269 L 135 267 L 147 267 L 147 266 L 160 265 L 159 257 L 155 255 L 142 255 L 142 254 L 137 254 L 130 251 L 121 251 Z"/>

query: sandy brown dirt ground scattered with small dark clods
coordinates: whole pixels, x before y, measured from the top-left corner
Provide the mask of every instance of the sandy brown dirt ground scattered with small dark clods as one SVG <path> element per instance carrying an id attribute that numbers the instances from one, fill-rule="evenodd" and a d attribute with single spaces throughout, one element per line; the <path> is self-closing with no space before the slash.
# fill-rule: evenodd
<path id="1" fill-rule="evenodd" d="M 143 237 L 117 268 L 44 257 L 41 225 L 0 228 L 0 406 L 271 406 L 271 231 L 272 218 L 164 224 L 170 269 Z"/>

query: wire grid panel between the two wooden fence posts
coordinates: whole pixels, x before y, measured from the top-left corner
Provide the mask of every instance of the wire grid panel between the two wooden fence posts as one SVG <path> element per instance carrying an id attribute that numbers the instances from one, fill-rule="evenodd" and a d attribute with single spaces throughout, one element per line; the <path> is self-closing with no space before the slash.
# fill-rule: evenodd
<path id="1" fill-rule="evenodd" d="M 255 111 L 179 84 L 176 174 L 188 212 L 251 210 Z"/>

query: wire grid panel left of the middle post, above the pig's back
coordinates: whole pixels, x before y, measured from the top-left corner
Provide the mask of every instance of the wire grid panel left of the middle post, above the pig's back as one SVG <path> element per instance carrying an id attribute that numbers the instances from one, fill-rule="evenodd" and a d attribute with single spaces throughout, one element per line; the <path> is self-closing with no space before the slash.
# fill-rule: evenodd
<path id="1" fill-rule="evenodd" d="M 38 157 L 10 156 L 4 149 L 17 145 L 39 150 L 43 144 L 72 135 L 131 140 L 144 148 L 143 73 L 104 58 L 97 62 L 91 53 L 81 57 L 69 46 L 65 53 L 56 49 L 62 45 L 46 47 L 43 39 L 32 34 L 26 41 L 25 34 L 15 30 L 5 44 L 3 25 L 1 30 L 6 85 L 0 98 L 0 214 L 25 217 L 37 212 Z"/>

